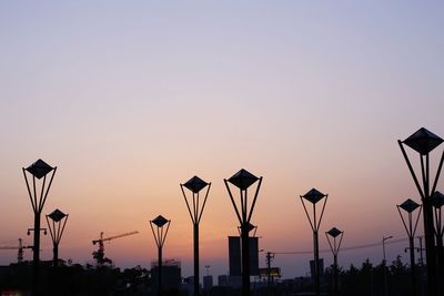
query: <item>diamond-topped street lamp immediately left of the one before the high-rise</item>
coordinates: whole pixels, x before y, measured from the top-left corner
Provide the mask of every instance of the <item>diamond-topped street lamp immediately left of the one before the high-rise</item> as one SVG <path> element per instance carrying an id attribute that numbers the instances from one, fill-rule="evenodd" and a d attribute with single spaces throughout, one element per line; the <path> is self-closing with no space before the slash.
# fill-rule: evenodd
<path id="1" fill-rule="evenodd" d="M 210 193 L 211 183 L 206 183 L 199 176 L 193 176 L 186 183 L 180 184 L 183 198 L 185 200 L 188 212 L 190 213 L 193 223 L 193 243 L 194 243 L 194 295 L 199 296 L 199 223 L 201 222 L 203 210 L 206 204 L 206 198 Z M 208 187 L 206 187 L 208 186 Z M 192 197 L 188 198 L 183 187 L 192 193 Z M 205 196 L 202 204 L 200 203 L 199 192 L 206 187 Z M 190 201 L 189 201 L 190 200 Z"/>

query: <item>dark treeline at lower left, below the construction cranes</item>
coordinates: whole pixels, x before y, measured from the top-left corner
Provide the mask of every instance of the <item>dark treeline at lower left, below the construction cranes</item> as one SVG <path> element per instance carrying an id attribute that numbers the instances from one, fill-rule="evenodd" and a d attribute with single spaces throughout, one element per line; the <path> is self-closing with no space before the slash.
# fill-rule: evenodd
<path id="1" fill-rule="evenodd" d="M 41 264 L 40 274 L 41 292 L 48 296 L 150 295 L 147 294 L 151 286 L 149 271 L 140 266 L 121 271 L 113 266 L 95 267 L 89 264 L 62 263 L 57 268 Z M 0 295 L 6 295 L 6 292 L 27 295 L 31 280 L 31 263 L 11 264 L 0 271 Z"/>

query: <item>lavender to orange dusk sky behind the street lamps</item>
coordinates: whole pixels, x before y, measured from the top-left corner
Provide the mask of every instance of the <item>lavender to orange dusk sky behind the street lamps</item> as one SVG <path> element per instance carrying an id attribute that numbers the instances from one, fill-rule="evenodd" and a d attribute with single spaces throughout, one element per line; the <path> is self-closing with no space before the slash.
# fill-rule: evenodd
<path id="1" fill-rule="evenodd" d="M 198 175 L 212 183 L 201 274 L 205 265 L 226 274 L 239 222 L 223 178 L 240 169 L 263 176 L 252 216 L 261 266 L 265 252 L 312 249 L 299 197 L 312 187 L 329 194 L 321 249 L 333 226 L 344 247 L 406 237 L 396 204 L 420 200 L 396 141 L 422 126 L 444 136 L 443 10 L 441 1 L 1 1 L 0 246 L 32 243 L 21 169 L 38 159 L 58 167 L 43 213 L 69 214 L 60 256 L 81 264 L 92 263 L 100 232 L 139 231 L 107 243 L 105 255 L 149 267 L 149 221 L 161 214 L 171 220 L 164 256 L 192 275 L 179 184 Z M 406 258 L 406 246 L 387 245 L 387 261 Z M 43 236 L 41 258 L 51 253 Z M 0 264 L 16 256 L 1 251 Z M 305 275 L 311 257 L 278 254 L 273 265 L 285 278 Z M 367 257 L 379 264 L 382 246 L 339 261 Z"/>

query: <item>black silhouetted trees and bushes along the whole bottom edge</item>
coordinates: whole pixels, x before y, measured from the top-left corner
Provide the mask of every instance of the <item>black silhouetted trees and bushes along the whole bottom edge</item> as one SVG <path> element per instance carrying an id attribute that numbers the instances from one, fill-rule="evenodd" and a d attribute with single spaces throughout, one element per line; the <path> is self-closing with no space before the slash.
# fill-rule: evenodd
<path id="1" fill-rule="evenodd" d="M 350 266 L 349 269 L 340 268 L 339 294 L 343 296 L 377 296 L 383 295 L 383 265 L 373 265 L 369 259 L 360 267 Z M 389 295 L 411 295 L 410 267 L 397 257 L 387 267 Z M 423 276 L 424 266 L 418 266 L 418 283 Z M 30 295 L 32 268 L 30 262 L 11 264 L 0 267 L 0 294 L 8 295 L 8 292 L 21 292 L 20 295 Z M 153 280 L 155 282 L 155 280 Z M 321 292 L 323 295 L 333 293 L 333 266 L 325 269 L 322 276 Z M 121 271 L 113 266 L 92 266 L 80 264 L 67 264 L 61 262 L 54 268 L 51 263 L 41 265 L 41 295 L 158 295 L 155 287 L 152 287 L 150 271 L 140 266 Z M 154 283 L 155 284 L 155 283 Z M 310 277 L 297 277 L 272 282 L 256 279 L 252 285 L 251 295 L 275 295 L 293 296 L 310 295 L 314 292 L 314 283 Z M 162 295 L 191 295 L 183 284 L 182 288 L 169 288 Z M 426 295 L 418 286 L 416 295 Z M 203 290 L 202 295 L 241 295 L 239 288 L 215 286 Z"/>

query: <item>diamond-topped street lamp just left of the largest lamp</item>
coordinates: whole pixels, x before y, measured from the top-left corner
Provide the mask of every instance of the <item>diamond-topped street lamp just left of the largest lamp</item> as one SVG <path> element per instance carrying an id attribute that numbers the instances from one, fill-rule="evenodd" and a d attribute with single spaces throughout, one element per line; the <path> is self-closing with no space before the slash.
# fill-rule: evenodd
<path id="1" fill-rule="evenodd" d="M 420 222 L 420 215 L 421 215 L 421 207 L 417 203 L 415 203 L 412 200 L 406 200 L 404 203 L 396 205 L 397 212 L 400 212 L 401 220 L 403 222 L 405 232 L 407 233 L 408 236 L 408 247 L 410 247 L 410 268 L 411 268 L 411 276 L 412 276 L 412 296 L 416 295 L 416 276 L 415 276 L 415 233 L 416 233 L 416 227 L 417 223 Z M 413 222 L 413 212 L 420 207 L 420 211 L 417 212 L 416 218 Z M 405 221 L 401 208 L 404 210 L 407 213 L 407 221 Z"/>

